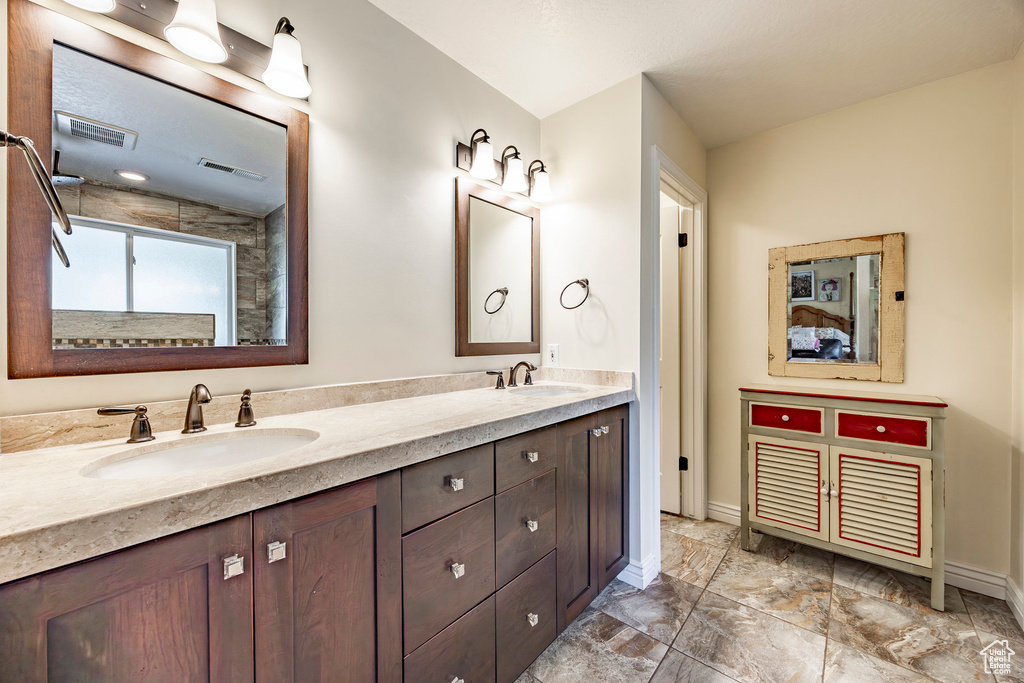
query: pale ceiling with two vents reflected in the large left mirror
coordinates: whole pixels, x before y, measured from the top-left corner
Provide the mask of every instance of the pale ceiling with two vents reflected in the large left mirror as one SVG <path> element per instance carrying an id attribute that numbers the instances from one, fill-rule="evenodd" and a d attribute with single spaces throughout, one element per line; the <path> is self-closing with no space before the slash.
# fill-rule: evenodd
<path id="1" fill-rule="evenodd" d="M 57 132 L 60 172 L 255 216 L 285 203 L 287 130 L 255 116 L 57 45 L 53 110 L 138 133 L 134 150 Z M 267 176 L 251 180 L 200 160 Z M 126 182 L 115 171 L 150 176 Z"/>

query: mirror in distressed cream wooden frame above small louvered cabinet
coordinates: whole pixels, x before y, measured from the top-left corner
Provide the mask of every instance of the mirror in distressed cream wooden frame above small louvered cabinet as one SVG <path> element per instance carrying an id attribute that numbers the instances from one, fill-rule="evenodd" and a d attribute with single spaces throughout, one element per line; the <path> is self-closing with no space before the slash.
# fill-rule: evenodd
<path id="1" fill-rule="evenodd" d="M 903 381 L 902 232 L 768 252 L 768 374 Z"/>

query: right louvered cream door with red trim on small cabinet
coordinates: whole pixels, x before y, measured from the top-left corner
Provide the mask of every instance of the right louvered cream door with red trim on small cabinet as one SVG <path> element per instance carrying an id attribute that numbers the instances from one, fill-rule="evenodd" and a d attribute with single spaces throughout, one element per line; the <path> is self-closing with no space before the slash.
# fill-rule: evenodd
<path id="1" fill-rule="evenodd" d="M 932 461 L 831 446 L 833 543 L 932 566 Z"/>

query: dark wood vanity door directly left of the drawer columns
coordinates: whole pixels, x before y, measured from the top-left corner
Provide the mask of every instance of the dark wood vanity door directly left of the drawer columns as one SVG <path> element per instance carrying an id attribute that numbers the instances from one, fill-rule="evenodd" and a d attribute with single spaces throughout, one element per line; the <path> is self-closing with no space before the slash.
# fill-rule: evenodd
<path id="1" fill-rule="evenodd" d="M 253 513 L 256 680 L 401 680 L 392 472 Z"/>

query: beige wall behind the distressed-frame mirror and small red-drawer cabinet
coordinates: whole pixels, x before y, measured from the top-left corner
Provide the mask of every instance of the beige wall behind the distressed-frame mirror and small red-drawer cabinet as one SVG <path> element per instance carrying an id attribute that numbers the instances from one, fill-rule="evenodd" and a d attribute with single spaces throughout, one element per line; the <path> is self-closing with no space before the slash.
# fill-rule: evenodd
<path id="1" fill-rule="evenodd" d="M 1012 78 L 1002 62 L 709 153 L 711 501 L 739 503 L 742 384 L 936 394 L 947 557 L 1010 569 Z M 892 231 L 907 234 L 906 382 L 769 378 L 768 249 Z"/>

